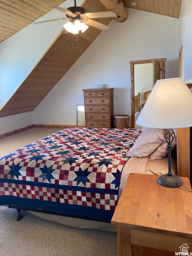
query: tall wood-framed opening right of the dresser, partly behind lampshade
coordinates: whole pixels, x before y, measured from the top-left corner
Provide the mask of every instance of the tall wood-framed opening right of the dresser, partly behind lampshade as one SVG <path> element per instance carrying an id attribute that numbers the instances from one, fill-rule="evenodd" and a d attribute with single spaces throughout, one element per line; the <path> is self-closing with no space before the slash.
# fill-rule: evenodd
<path id="1" fill-rule="evenodd" d="M 149 94 L 158 79 L 165 78 L 165 61 L 166 58 L 130 61 L 132 128 L 137 127 L 135 121 L 146 101 L 145 93 Z"/>

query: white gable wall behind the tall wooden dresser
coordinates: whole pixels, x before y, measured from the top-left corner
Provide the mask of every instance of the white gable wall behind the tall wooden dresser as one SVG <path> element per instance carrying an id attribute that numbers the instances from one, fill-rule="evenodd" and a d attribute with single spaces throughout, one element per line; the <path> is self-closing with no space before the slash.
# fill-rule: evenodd
<path id="1" fill-rule="evenodd" d="M 177 77 L 179 19 L 127 9 L 124 23 L 112 20 L 33 111 L 34 124 L 76 124 L 82 89 L 114 87 L 114 114 L 131 114 L 131 60 L 167 58 L 165 77 Z M 78 44 L 78 43 L 77 43 Z M 130 118 L 131 119 L 131 118 Z"/>

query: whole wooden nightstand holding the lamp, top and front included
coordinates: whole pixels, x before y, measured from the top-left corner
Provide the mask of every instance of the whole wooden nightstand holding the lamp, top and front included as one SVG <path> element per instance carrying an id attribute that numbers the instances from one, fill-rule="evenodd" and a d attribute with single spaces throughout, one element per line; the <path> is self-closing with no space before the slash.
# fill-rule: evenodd
<path id="1" fill-rule="evenodd" d="M 189 246 L 192 252 L 192 193 L 166 188 L 157 175 L 129 175 L 111 224 L 117 227 L 118 256 L 165 256 Z M 190 187 L 188 178 L 181 178 Z"/>

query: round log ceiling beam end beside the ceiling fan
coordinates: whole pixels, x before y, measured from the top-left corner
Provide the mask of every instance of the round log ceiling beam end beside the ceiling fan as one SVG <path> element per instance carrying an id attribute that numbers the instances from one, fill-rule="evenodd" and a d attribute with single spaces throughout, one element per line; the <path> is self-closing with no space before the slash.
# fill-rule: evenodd
<path id="1" fill-rule="evenodd" d="M 118 22 L 124 22 L 128 18 L 128 13 L 124 7 L 122 1 L 118 0 L 99 0 L 103 6 L 106 7 L 107 10 L 115 12 L 117 14 L 117 18 L 114 18 Z"/>

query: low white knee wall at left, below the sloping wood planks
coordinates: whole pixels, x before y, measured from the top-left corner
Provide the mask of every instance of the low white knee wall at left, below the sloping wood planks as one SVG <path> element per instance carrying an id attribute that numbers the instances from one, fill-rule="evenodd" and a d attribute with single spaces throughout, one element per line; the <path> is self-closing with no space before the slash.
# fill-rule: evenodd
<path id="1" fill-rule="evenodd" d="M 1 117 L 0 134 L 11 132 L 31 124 L 33 124 L 33 116 L 31 111 L 13 116 Z"/>

